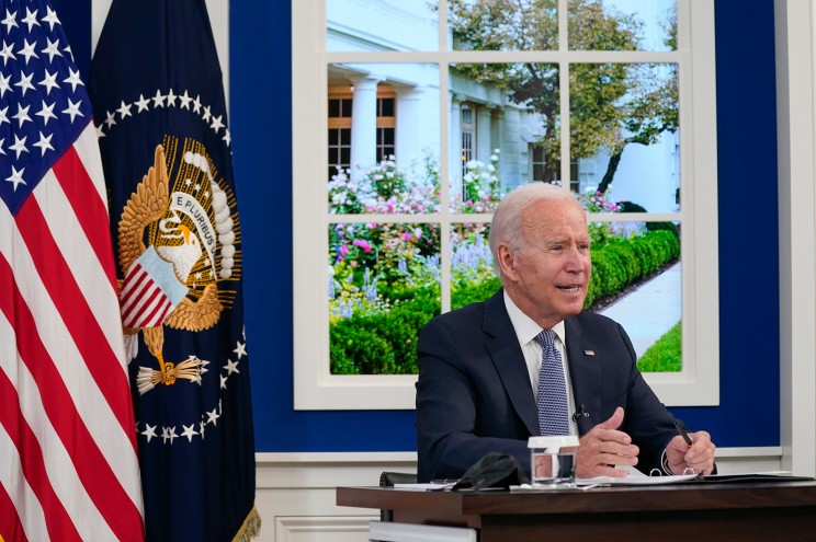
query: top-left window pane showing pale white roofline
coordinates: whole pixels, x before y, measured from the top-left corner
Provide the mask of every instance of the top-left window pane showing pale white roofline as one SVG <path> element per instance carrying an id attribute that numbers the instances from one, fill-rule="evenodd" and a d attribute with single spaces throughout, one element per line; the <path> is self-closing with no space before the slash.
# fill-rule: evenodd
<path id="1" fill-rule="evenodd" d="M 427 0 L 326 0 L 326 49 L 437 50 L 439 16 Z"/>

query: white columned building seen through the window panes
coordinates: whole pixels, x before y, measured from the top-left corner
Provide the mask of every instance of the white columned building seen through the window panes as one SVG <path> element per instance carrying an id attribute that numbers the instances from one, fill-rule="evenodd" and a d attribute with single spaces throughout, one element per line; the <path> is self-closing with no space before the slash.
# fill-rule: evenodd
<path id="1" fill-rule="evenodd" d="M 639 4 L 638 4 L 639 5 Z M 646 18 L 658 7 L 646 2 Z M 645 43 L 655 43 L 655 25 L 645 26 Z M 438 14 L 424 0 L 329 0 L 327 50 L 428 51 L 439 47 Z M 452 43 L 445 36 L 449 47 Z M 544 136 L 537 114 L 511 101 L 508 92 L 452 73 L 449 79 L 451 185 L 461 185 L 464 163 L 490 162 L 500 149 L 499 176 L 509 189 L 535 178 L 540 160 L 534 145 Z M 329 175 L 337 165 L 369 168 L 390 154 L 410 171 L 423 157 L 440 155 L 440 71 L 435 64 L 335 64 L 328 68 Z M 679 136 L 665 134 L 656 145 L 625 148 L 612 197 L 631 200 L 650 212 L 678 209 Z M 573 164 L 574 189 L 593 192 L 609 157 L 599 153 Z M 549 181 L 549 180 L 546 180 Z"/>

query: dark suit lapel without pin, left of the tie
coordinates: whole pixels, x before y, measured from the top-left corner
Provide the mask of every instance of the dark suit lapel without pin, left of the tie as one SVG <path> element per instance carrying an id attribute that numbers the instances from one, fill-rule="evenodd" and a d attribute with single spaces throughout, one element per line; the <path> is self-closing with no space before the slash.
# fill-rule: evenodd
<path id="1" fill-rule="evenodd" d="M 533 400 L 533 389 L 530 387 L 524 354 L 505 307 L 503 289 L 485 302 L 483 330 L 494 337 L 486 343 L 487 351 L 515 413 L 530 435 L 539 435 L 539 414 Z"/>

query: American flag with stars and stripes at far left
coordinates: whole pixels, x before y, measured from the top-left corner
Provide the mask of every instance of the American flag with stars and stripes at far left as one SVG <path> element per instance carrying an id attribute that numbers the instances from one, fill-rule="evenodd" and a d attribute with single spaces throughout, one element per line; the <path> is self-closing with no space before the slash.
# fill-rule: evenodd
<path id="1" fill-rule="evenodd" d="M 144 540 L 91 105 L 50 5 L 0 7 L 0 538 Z"/>

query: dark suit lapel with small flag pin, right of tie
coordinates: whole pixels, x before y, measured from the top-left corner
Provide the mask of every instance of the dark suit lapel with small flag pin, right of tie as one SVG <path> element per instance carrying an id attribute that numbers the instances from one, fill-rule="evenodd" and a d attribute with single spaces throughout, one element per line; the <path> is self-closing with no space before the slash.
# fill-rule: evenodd
<path id="1" fill-rule="evenodd" d="M 564 321 L 564 325 L 575 406 L 578 412 L 589 414 L 589 416 L 578 418 L 578 433 L 585 435 L 597 424 L 603 422 L 599 419 L 603 371 L 601 365 L 596 361 L 596 354 L 601 353 L 597 353 L 594 344 L 583 333 L 576 318 L 568 318 Z"/>

